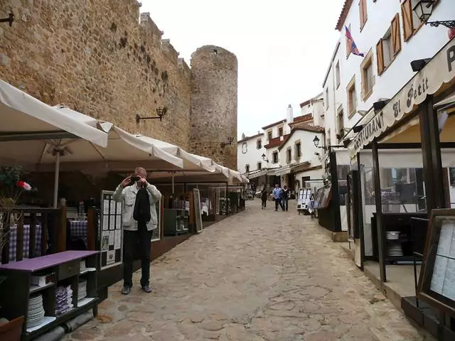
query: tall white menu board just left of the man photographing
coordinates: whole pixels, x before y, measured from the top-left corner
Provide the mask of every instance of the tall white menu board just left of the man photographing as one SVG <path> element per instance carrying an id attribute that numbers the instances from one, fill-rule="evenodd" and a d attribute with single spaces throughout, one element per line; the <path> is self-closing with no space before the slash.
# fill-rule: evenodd
<path id="1" fill-rule="evenodd" d="M 103 190 L 101 195 L 101 269 L 122 264 L 122 202 L 115 202 L 113 194 Z"/>

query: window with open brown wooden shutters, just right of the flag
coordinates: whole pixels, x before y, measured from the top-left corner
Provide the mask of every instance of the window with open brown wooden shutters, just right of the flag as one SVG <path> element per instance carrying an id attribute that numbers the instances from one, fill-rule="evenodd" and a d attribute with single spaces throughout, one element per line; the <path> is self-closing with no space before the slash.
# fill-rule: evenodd
<path id="1" fill-rule="evenodd" d="M 395 56 L 401 50 L 401 35 L 400 35 L 400 16 L 395 15 L 390 25 L 390 28 L 385 33 L 384 37 L 376 44 L 376 55 L 378 58 L 378 75 L 381 75 L 385 69 L 392 64 Z"/>

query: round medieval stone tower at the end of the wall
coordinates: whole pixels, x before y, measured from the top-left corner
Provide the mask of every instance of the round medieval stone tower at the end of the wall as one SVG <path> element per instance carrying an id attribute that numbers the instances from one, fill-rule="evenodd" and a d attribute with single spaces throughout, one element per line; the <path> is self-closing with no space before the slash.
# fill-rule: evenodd
<path id="1" fill-rule="evenodd" d="M 206 45 L 191 55 L 190 124 L 193 153 L 237 168 L 237 57 L 224 48 Z"/>

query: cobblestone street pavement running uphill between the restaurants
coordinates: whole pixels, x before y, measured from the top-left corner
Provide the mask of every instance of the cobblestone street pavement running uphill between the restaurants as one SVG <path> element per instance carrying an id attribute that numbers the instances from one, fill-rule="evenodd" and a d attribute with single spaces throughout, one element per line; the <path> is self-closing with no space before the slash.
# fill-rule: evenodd
<path id="1" fill-rule="evenodd" d="M 424 340 L 315 220 L 259 205 L 154 261 L 152 294 L 138 273 L 112 286 L 65 340 Z"/>

